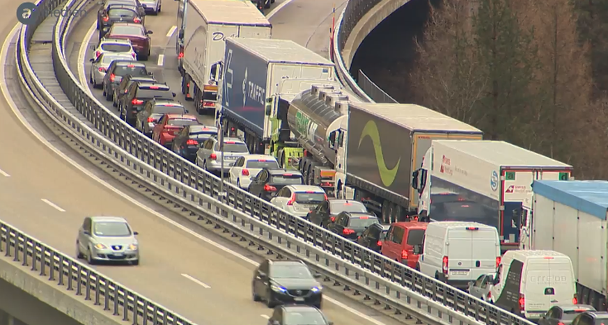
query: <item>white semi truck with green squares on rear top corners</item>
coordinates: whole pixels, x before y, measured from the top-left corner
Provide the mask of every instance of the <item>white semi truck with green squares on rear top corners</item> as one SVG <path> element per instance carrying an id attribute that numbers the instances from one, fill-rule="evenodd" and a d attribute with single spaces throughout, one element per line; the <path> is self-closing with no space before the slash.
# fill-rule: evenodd
<path id="1" fill-rule="evenodd" d="M 534 180 L 570 180 L 572 166 L 504 141 L 433 140 L 412 184 L 419 217 L 498 229 L 501 250 L 519 248 L 520 216 Z"/>

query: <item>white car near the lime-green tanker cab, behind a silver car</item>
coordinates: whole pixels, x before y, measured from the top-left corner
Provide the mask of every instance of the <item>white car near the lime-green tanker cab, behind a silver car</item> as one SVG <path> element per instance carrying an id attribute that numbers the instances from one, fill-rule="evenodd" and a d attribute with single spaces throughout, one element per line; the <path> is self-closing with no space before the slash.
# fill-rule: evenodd
<path id="1" fill-rule="evenodd" d="M 256 177 L 263 168 L 279 168 L 279 163 L 267 154 L 246 154 L 235 161 L 228 171 L 230 182 L 247 191 L 251 178 Z"/>

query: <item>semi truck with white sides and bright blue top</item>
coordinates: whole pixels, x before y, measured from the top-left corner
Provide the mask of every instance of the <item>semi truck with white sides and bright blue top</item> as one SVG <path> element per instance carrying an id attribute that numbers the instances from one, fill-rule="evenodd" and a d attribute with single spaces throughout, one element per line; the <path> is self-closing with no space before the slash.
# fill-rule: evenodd
<path id="1" fill-rule="evenodd" d="M 538 180 L 531 211 L 522 214 L 526 249 L 550 249 L 570 257 L 577 302 L 607 310 L 608 182 Z"/>

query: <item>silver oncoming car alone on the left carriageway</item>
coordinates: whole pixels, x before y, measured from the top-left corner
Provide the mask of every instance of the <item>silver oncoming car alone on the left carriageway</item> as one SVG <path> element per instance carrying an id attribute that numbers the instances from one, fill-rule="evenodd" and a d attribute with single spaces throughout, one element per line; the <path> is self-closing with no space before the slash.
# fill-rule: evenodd
<path id="1" fill-rule="evenodd" d="M 139 264 L 139 242 L 127 220 L 120 216 L 87 216 L 78 230 L 76 257 L 88 264 Z"/>

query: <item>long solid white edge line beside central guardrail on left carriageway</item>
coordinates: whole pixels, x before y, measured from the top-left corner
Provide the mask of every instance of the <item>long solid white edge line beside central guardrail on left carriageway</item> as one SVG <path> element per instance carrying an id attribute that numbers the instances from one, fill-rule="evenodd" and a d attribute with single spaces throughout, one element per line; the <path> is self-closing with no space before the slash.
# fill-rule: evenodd
<path id="1" fill-rule="evenodd" d="M 288 1 L 288 0 L 286 0 L 286 1 Z M 166 223 L 173 225 L 173 227 L 178 228 L 178 229 L 182 230 L 183 232 L 186 232 L 188 235 L 192 235 L 192 237 L 195 237 L 196 239 L 204 241 L 206 244 L 209 244 L 210 246 L 213 246 L 213 247 L 219 249 L 220 251 L 224 251 L 226 254 L 233 255 L 234 257 L 237 257 L 240 260 L 243 260 L 244 262 L 247 262 L 251 265 L 254 265 L 255 267 L 258 267 L 260 264 L 254 260 L 251 260 L 249 257 L 246 257 L 235 251 L 231 251 L 230 248 L 227 248 L 226 246 L 223 246 L 221 244 L 217 244 L 215 241 L 212 241 L 211 239 L 208 239 L 207 237 L 203 237 L 203 235 L 198 234 L 194 230 L 189 229 L 189 228 L 185 227 L 184 225 L 181 225 L 180 223 L 169 219 L 168 217 L 164 216 L 163 214 L 156 212 L 154 209 L 151 209 L 150 207 L 147 207 L 143 203 L 140 203 L 138 200 L 135 200 L 131 196 L 127 195 L 126 193 L 123 193 L 120 190 L 116 189 L 116 187 L 113 187 L 108 182 L 105 182 L 97 175 L 91 173 L 91 171 L 88 171 L 86 168 L 80 166 L 76 161 L 72 160 L 70 157 L 68 157 L 66 154 L 61 152 L 59 149 L 55 148 L 49 141 L 47 141 L 47 139 L 45 137 L 40 135 L 36 131 L 36 129 L 34 129 L 29 124 L 29 122 L 27 122 L 27 120 L 24 118 L 23 114 L 19 111 L 19 109 L 17 109 L 17 105 L 15 104 L 15 101 L 13 101 L 13 98 L 11 98 L 8 93 L 8 88 L 6 87 L 6 82 L 5 82 L 6 72 L 4 71 L 4 63 L 6 62 L 8 45 L 10 43 L 10 40 L 13 39 L 13 35 L 17 32 L 17 29 L 20 28 L 20 26 L 21 26 L 21 24 L 17 24 L 17 25 L 15 25 L 15 28 L 13 28 L 13 31 L 10 31 L 10 35 L 8 36 L 8 38 L 6 38 L 6 40 L 4 40 L 4 43 L 2 45 L 2 50 L 0 51 L 0 89 L 2 90 L 4 98 L 5 98 L 6 102 L 8 102 L 10 109 L 13 111 L 15 116 L 17 116 L 17 119 L 22 123 L 22 125 L 24 125 L 24 127 L 26 127 L 26 129 L 28 129 L 28 131 L 31 132 L 31 134 L 33 134 L 33 136 L 36 136 L 36 138 L 38 138 L 38 140 L 41 143 L 46 145 L 50 150 L 55 152 L 59 157 L 65 159 L 65 161 L 68 161 L 69 164 L 71 164 L 72 166 L 77 168 L 79 171 L 84 173 L 84 175 L 91 177 L 91 179 L 102 184 L 102 186 L 106 187 L 110 191 L 113 191 L 114 193 L 116 193 L 116 195 L 120 196 L 121 198 L 124 198 L 125 200 L 129 201 L 130 203 L 132 203 L 134 205 L 137 205 L 137 207 L 140 207 L 141 209 L 148 212 L 149 214 L 156 216 L 158 219 L 161 219 L 162 221 L 165 221 Z M 386 325 L 377 319 L 373 319 L 372 317 L 365 315 L 364 313 L 359 312 L 358 310 L 355 310 L 354 308 L 346 306 L 344 303 L 341 303 L 340 301 L 337 301 L 336 299 L 330 298 L 329 296 L 327 296 L 327 297 L 324 296 L 323 300 L 328 301 L 329 303 L 333 303 L 334 305 L 336 305 L 340 308 L 343 308 L 344 310 L 352 313 L 352 315 L 361 317 L 362 319 L 365 319 L 366 321 L 368 321 L 372 324 Z"/>

